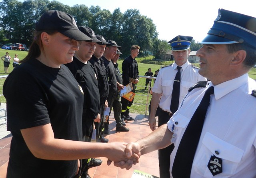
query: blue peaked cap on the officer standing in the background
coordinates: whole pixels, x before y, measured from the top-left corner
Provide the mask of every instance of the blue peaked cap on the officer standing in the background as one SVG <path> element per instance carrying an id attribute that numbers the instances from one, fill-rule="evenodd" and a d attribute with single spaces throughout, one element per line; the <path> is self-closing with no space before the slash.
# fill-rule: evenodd
<path id="1" fill-rule="evenodd" d="M 192 39 L 192 36 L 178 35 L 168 43 L 171 44 L 173 51 L 183 51 L 189 49 Z"/>

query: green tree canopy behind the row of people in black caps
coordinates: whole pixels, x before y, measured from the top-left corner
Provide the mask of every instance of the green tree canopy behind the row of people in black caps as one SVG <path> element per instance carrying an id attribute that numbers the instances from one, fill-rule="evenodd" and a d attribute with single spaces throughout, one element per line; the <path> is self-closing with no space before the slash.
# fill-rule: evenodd
<path id="1" fill-rule="evenodd" d="M 8 42 L 20 42 L 30 46 L 35 23 L 48 10 L 60 10 L 71 14 L 78 26 L 89 26 L 95 34 L 104 36 L 106 40 L 116 41 L 122 46 L 124 56 L 130 54 L 130 46 L 134 44 L 139 45 L 144 54 L 146 51 L 158 54 L 167 50 L 167 42 L 158 40 L 158 32 L 152 19 L 141 15 L 137 9 L 128 9 L 122 14 L 120 8 L 116 8 L 111 13 L 109 10 L 102 10 L 100 6 L 88 8 L 83 4 L 76 4 L 70 7 L 56 0 L 0 2 L 0 42 L 5 43 L 5 34 Z M 196 43 L 193 46 L 194 49 L 198 48 Z"/>

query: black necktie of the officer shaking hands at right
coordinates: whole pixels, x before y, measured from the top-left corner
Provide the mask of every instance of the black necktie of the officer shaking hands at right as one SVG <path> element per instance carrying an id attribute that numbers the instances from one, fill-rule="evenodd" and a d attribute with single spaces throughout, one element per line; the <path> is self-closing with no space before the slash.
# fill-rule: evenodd
<path id="1" fill-rule="evenodd" d="M 210 104 L 210 95 L 213 93 L 213 86 L 206 90 L 181 138 L 172 166 L 172 176 L 174 178 L 190 178 L 192 163 L 204 125 L 205 114 Z"/>

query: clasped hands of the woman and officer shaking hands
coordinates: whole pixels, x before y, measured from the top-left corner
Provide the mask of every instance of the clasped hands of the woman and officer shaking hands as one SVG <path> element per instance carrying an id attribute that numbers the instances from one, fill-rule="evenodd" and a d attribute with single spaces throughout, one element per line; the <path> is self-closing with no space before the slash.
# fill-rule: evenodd
<path id="1" fill-rule="evenodd" d="M 137 164 L 140 158 L 140 145 L 136 142 L 131 143 L 120 143 L 113 142 L 108 143 L 111 152 L 107 153 L 108 166 L 114 162 L 114 166 L 122 169 L 130 169 L 132 165 Z"/>

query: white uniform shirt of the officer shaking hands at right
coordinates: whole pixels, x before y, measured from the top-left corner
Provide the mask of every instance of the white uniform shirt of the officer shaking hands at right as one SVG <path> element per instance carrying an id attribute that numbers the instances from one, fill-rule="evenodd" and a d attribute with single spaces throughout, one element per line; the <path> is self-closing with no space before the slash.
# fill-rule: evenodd
<path id="1" fill-rule="evenodd" d="M 174 133 L 171 142 L 175 146 L 170 173 L 180 140 L 208 87 L 192 90 L 167 123 Z M 213 177 L 207 167 L 213 155 L 222 159 L 222 173 L 214 178 L 256 177 L 256 97 L 250 95 L 255 89 L 256 82 L 248 74 L 214 86 L 191 178 Z"/>

